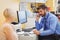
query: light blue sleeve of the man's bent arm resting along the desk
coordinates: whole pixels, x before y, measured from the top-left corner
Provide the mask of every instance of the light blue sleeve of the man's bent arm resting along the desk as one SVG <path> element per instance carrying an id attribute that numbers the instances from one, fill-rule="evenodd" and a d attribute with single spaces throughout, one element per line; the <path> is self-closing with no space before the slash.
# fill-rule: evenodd
<path id="1" fill-rule="evenodd" d="M 57 20 L 56 17 L 54 17 L 54 18 L 51 17 L 49 20 L 50 20 L 49 21 L 50 29 L 49 30 L 40 31 L 40 35 L 41 36 L 54 34 L 58 20 Z"/>

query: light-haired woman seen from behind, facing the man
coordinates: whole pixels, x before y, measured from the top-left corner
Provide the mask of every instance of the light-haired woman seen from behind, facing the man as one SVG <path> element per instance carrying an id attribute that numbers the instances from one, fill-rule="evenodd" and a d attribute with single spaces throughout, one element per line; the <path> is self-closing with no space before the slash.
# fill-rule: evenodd
<path id="1" fill-rule="evenodd" d="M 11 22 L 14 21 L 14 12 L 11 9 L 5 9 L 3 15 L 5 17 L 5 22 L 1 29 L 3 29 L 6 40 L 18 40 L 17 34 L 13 29 Z"/>

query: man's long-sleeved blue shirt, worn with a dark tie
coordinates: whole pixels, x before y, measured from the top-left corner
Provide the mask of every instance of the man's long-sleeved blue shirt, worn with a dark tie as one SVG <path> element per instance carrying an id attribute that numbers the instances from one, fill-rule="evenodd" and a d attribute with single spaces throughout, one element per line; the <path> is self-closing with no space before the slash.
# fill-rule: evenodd
<path id="1" fill-rule="evenodd" d="M 44 21 L 46 20 L 46 22 Z M 40 31 L 41 36 L 51 35 L 54 34 L 56 31 L 58 19 L 57 17 L 47 12 L 44 17 L 42 17 L 41 22 L 35 21 L 36 29 Z M 40 30 L 41 28 L 44 28 L 43 30 Z"/>

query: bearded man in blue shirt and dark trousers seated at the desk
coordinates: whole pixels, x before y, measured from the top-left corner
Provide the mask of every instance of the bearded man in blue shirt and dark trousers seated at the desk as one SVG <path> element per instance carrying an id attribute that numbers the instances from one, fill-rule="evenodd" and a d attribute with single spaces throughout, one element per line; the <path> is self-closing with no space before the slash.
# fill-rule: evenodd
<path id="1" fill-rule="evenodd" d="M 54 33 L 58 22 L 57 17 L 48 12 L 46 5 L 40 5 L 37 10 L 38 15 L 35 21 L 36 29 L 34 29 L 33 32 L 38 35 L 39 40 L 55 40 Z M 42 19 L 39 23 L 38 20 L 40 16 L 42 16 Z"/>

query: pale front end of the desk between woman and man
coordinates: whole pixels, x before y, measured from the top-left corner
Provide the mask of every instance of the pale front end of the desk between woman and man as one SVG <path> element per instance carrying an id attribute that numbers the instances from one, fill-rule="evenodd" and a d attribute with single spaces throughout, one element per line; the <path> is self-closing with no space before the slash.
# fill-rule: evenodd
<path id="1" fill-rule="evenodd" d="M 18 40 L 37 40 L 37 36 L 29 32 L 18 32 Z"/>

